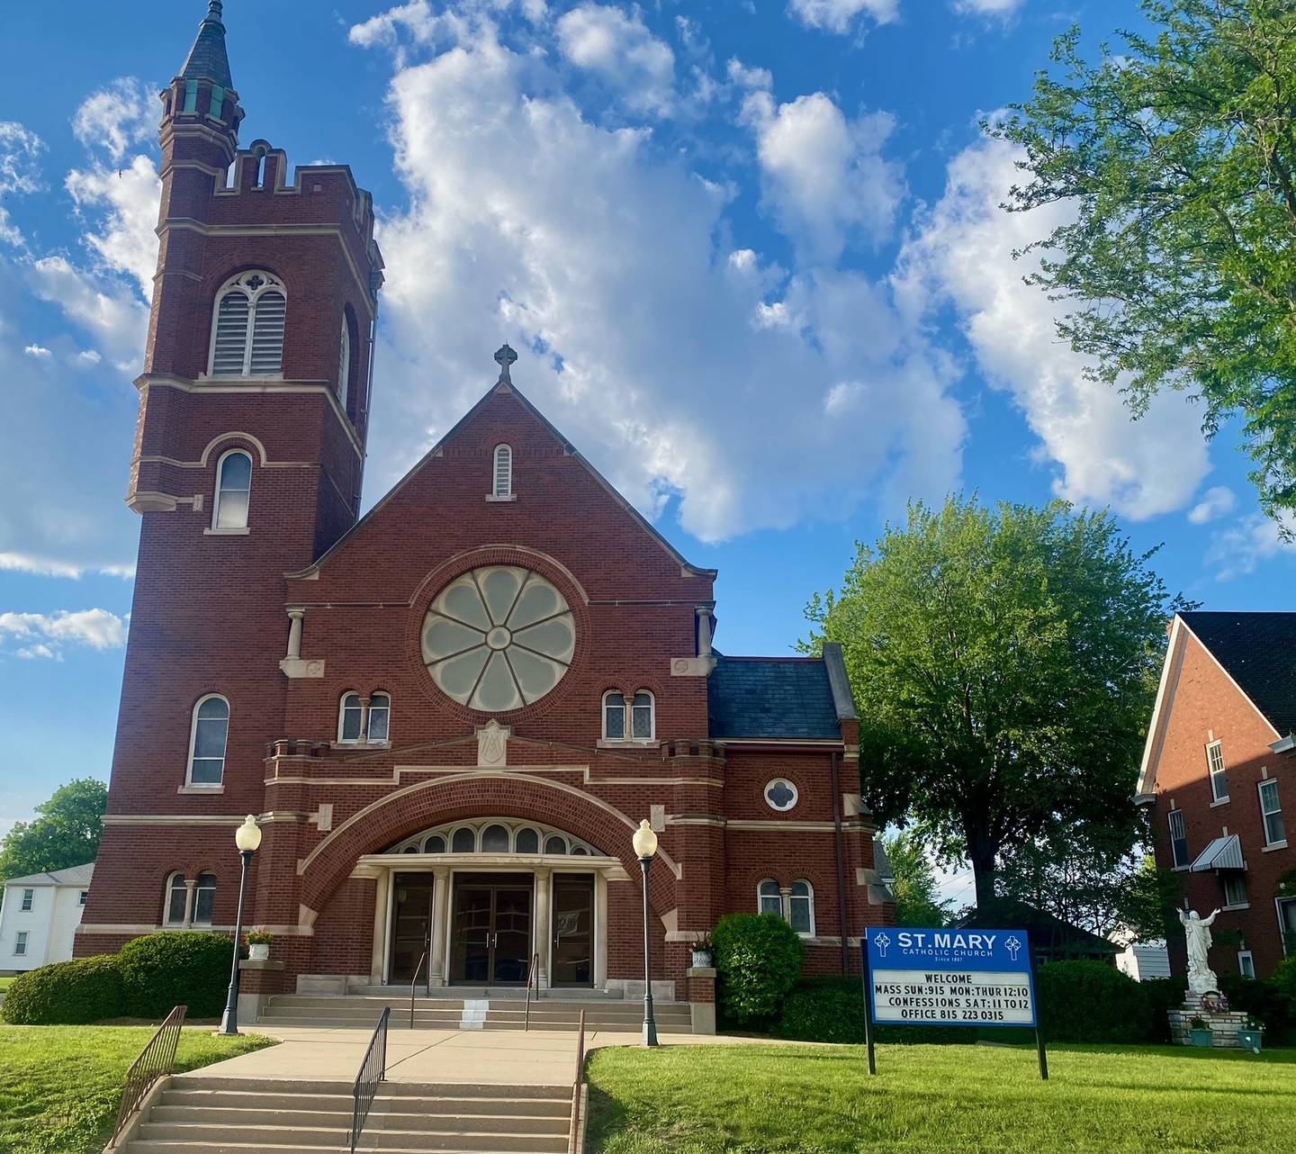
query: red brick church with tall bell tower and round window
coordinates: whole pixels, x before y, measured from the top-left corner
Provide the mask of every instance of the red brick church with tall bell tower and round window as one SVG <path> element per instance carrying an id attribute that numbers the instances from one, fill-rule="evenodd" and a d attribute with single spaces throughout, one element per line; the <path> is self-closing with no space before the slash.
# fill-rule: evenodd
<path id="1" fill-rule="evenodd" d="M 410 982 L 426 954 L 433 985 L 632 996 L 647 818 L 658 996 L 689 998 L 689 943 L 734 910 L 785 918 L 811 972 L 858 967 L 893 906 L 840 650 L 714 648 L 715 571 L 526 401 L 508 346 L 362 517 L 372 198 L 240 148 L 242 117 L 213 0 L 162 93 L 139 567 L 76 952 L 231 932 L 253 813 L 263 991 Z"/>

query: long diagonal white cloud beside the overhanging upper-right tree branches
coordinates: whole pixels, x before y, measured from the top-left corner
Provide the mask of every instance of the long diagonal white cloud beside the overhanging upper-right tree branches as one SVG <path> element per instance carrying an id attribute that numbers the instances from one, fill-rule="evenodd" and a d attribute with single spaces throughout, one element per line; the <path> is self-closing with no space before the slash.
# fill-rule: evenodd
<path id="1" fill-rule="evenodd" d="M 982 140 L 950 162 L 945 194 L 919 218 L 898 263 L 903 311 L 916 320 L 954 306 L 986 379 L 1039 438 L 1037 458 L 1060 465 L 1060 497 L 1134 519 L 1181 508 L 1209 469 L 1200 416 L 1169 394 L 1133 421 L 1116 389 L 1085 379 L 1083 359 L 1054 328 L 1059 306 L 1023 283 L 1030 261 L 1012 259 L 1068 209 L 999 209 L 1019 178 L 1015 159 L 1011 147 Z"/>

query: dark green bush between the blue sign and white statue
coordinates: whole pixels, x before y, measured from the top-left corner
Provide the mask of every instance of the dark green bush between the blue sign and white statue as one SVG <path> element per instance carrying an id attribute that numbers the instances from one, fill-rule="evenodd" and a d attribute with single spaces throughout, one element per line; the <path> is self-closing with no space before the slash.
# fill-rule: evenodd
<path id="1" fill-rule="evenodd" d="M 1152 998 L 1107 962 L 1048 962 L 1036 975 L 1048 1041 L 1137 1042 L 1153 1028 Z"/>

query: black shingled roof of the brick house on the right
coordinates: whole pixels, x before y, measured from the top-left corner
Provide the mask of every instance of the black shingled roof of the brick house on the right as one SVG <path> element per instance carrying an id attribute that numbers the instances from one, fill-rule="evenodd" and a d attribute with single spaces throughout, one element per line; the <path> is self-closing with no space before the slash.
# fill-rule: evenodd
<path id="1" fill-rule="evenodd" d="M 1296 613 L 1179 613 L 1282 736 L 1296 730 Z"/>

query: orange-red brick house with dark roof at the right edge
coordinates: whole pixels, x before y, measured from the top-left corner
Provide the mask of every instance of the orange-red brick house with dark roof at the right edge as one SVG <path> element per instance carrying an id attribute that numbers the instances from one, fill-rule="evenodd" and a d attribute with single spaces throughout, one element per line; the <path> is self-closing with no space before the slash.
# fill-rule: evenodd
<path id="1" fill-rule="evenodd" d="M 1296 889 L 1282 886 L 1296 867 L 1293 654 L 1296 613 L 1188 612 L 1170 624 L 1138 801 L 1152 807 L 1157 865 L 1183 875 L 1203 917 L 1220 909 L 1217 974 L 1265 978 L 1296 952 Z M 1182 935 L 1170 965 L 1185 972 Z"/>

